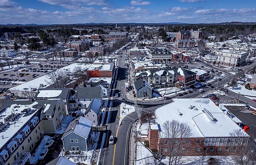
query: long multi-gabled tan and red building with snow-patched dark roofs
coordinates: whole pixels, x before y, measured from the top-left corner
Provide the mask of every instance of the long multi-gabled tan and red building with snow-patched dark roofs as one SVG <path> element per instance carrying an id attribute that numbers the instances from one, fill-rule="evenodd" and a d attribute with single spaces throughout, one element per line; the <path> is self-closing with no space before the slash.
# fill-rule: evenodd
<path id="1" fill-rule="evenodd" d="M 136 80 L 143 77 L 153 88 L 174 87 L 176 82 L 187 89 L 195 84 L 196 73 L 184 68 L 151 69 L 135 73 Z"/>

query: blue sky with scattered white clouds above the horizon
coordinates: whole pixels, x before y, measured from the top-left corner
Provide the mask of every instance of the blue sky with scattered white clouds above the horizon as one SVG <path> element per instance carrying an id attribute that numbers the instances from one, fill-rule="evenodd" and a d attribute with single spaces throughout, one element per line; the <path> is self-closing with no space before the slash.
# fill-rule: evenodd
<path id="1" fill-rule="evenodd" d="M 0 0 L 0 24 L 255 22 L 255 0 Z"/>

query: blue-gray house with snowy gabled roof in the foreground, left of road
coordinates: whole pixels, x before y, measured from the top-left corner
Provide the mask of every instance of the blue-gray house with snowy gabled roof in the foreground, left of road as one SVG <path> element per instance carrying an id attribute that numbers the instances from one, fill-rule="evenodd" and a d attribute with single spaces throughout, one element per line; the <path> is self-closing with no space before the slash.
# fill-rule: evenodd
<path id="1" fill-rule="evenodd" d="M 62 135 L 65 151 L 87 151 L 92 134 L 92 122 L 82 116 L 73 120 Z"/>

